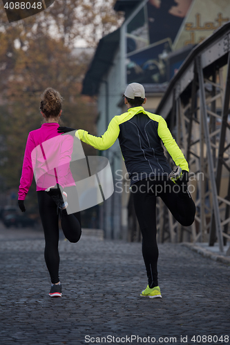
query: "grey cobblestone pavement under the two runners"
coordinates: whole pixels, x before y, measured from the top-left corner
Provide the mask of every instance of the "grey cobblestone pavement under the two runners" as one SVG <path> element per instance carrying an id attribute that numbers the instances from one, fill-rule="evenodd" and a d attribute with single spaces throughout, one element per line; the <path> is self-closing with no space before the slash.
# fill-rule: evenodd
<path id="1" fill-rule="evenodd" d="M 0 239 L 0 344 L 229 342 L 229 265 L 160 245 L 162 299 L 148 299 L 140 244 L 62 237 L 63 297 L 51 299 L 42 233 L 1 228 Z"/>

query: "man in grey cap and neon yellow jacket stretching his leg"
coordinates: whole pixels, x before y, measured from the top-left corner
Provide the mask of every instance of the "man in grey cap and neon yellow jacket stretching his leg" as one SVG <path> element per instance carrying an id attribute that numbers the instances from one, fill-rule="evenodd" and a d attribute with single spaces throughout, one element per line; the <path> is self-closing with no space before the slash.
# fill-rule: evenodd
<path id="1" fill-rule="evenodd" d="M 90 135 L 86 130 L 76 130 L 75 136 L 98 150 L 107 150 L 119 139 L 142 232 L 148 286 L 141 296 L 162 297 L 157 277 L 156 197 L 162 198 L 180 224 L 190 226 L 195 217 L 195 204 L 186 188 L 189 165 L 163 117 L 144 110 L 145 90 L 140 83 L 127 86 L 124 103 L 128 111 L 113 117 L 102 137 Z M 58 131 L 74 129 L 59 127 Z M 173 171 L 164 156 L 162 143 L 178 166 Z"/>

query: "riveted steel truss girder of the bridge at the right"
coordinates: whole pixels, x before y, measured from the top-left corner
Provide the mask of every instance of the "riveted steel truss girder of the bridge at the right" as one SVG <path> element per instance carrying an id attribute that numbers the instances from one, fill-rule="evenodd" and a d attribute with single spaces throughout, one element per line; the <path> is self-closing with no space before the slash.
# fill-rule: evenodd
<path id="1" fill-rule="evenodd" d="M 157 226 L 162 242 L 164 233 L 171 242 L 182 241 L 184 233 L 193 242 L 204 242 L 209 237 L 210 245 L 218 237 L 222 252 L 223 236 L 224 244 L 230 239 L 229 50 L 230 23 L 227 23 L 191 52 L 157 108 L 189 161 L 194 178 L 190 187 L 195 188 L 193 199 L 197 207 L 195 223 L 189 229 L 179 226 L 171 214 L 167 224 L 165 213 L 163 221 L 159 217 Z"/>

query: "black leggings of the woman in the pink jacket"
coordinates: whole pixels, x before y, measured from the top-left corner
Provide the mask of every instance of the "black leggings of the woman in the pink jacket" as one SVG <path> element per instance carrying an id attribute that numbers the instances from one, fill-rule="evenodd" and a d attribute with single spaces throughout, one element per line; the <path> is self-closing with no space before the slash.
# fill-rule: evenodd
<path id="1" fill-rule="evenodd" d="M 72 188 L 73 190 L 73 188 Z M 71 188 L 65 188 L 65 191 L 71 193 Z M 37 192 L 39 204 L 39 214 L 45 235 L 45 261 L 52 284 L 59 282 L 59 225 L 57 215 L 57 205 L 52 198 L 44 191 Z M 81 215 L 73 213 L 70 215 L 61 215 L 61 228 L 66 239 L 70 242 L 78 242 L 82 235 Z"/>

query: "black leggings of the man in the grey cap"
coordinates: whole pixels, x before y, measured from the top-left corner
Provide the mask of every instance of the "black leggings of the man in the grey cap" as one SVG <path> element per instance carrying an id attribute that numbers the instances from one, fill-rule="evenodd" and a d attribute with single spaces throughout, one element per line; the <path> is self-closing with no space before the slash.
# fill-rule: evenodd
<path id="1" fill-rule="evenodd" d="M 193 224 L 195 217 L 195 204 L 191 195 L 186 191 L 182 193 L 179 186 L 170 180 L 151 181 L 149 179 L 138 181 L 132 186 L 133 201 L 137 220 L 142 232 L 142 254 L 148 286 L 158 286 L 157 280 L 157 226 L 156 226 L 156 197 L 160 196 L 169 208 L 173 217 L 182 226 Z"/>

